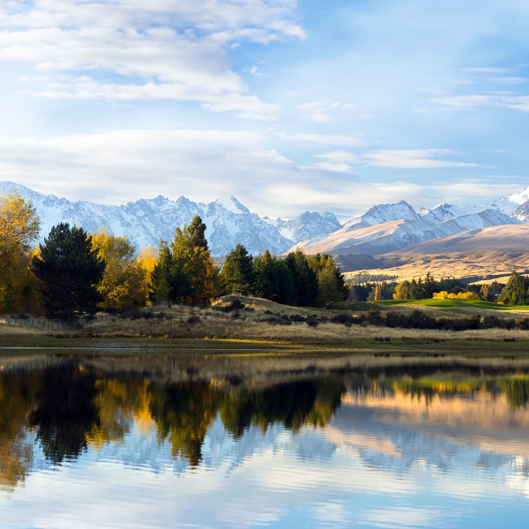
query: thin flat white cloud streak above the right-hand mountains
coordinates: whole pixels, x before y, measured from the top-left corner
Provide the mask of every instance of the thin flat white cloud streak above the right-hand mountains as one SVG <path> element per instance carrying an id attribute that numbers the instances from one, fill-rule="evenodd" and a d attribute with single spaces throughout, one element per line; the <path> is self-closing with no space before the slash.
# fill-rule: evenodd
<path id="1" fill-rule="evenodd" d="M 440 160 L 448 149 L 381 150 L 361 155 L 366 165 L 394 169 L 437 169 L 441 167 L 476 167 L 476 163 Z"/>

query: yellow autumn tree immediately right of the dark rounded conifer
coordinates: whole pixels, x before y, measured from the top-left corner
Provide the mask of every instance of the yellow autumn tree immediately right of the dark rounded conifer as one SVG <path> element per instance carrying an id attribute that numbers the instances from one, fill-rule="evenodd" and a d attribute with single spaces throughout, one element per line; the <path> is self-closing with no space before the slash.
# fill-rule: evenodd
<path id="1" fill-rule="evenodd" d="M 92 243 L 106 262 L 97 290 L 104 297 L 104 308 L 127 308 L 147 304 L 147 270 L 135 257 L 134 245 L 126 235 L 108 233 L 105 227 L 92 235 Z"/>

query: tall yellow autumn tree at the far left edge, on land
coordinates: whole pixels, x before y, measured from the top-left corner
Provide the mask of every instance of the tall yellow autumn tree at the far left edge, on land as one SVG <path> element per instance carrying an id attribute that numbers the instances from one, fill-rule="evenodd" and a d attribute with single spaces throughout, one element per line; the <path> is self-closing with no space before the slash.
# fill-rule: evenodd
<path id="1" fill-rule="evenodd" d="M 38 308 L 37 280 L 29 270 L 29 243 L 37 239 L 39 224 L 31 200 L 16 190 L 0 194 L 0 312 Z"/>

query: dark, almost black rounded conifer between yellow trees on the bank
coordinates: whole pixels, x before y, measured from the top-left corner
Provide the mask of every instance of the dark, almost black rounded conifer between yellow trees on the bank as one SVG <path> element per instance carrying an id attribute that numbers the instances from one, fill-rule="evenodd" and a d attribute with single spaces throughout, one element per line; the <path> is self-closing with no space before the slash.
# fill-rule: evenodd
<path id="1" fill-rule="evenodd" d="M 41 284 L 46 314 L 69 318 L 74 313 L 95 312 L 102 301 L 96 285 L 103 278 L 105 260 L 92 247 L 92 236 L 67 223 L 53 226 L 31 270 Z"/>

